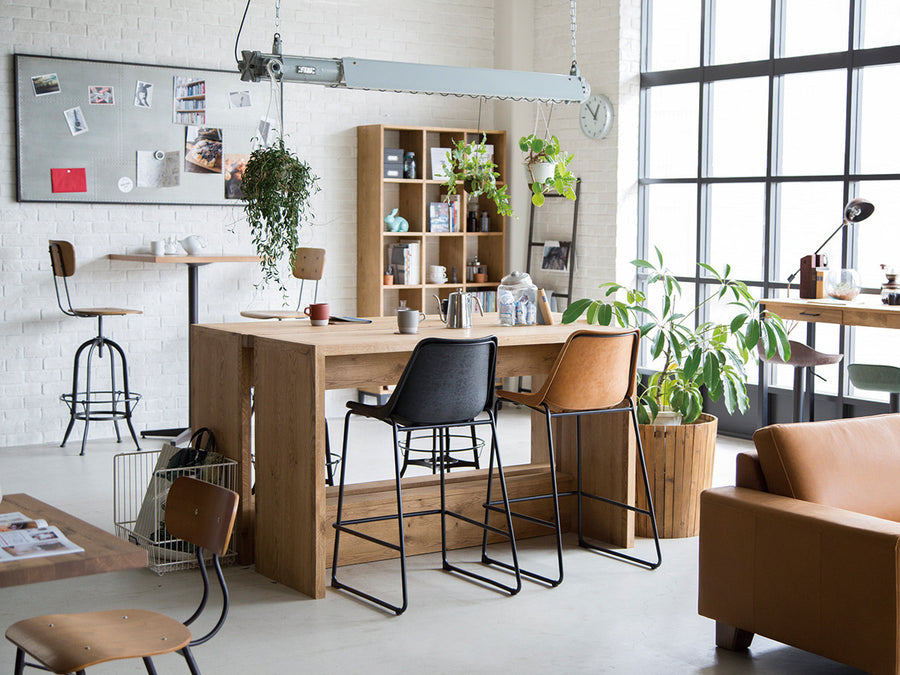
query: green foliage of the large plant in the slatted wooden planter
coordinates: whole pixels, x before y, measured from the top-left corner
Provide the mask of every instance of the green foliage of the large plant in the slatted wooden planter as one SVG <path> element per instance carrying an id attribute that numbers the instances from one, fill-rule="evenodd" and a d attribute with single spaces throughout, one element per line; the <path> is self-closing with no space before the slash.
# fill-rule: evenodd
<path id="1" fill-rule="evenodd" d="M 760 313 L 756 300 L 746 284 L 731 278 L 730 266 L 719 273 L 712 266 L 698 263 L 715 281 L 706 299 L 688 311 L 681 311 L 681 284 L 666 269 L 663 256 L 656 249 L 658 264 L 633 260 L 639 273 L 647 275 L 647 291 L 609 282 L 599 300 L 584 298 L 573 302 L 563 313 L 563 323 L 571 323 L 583 314 L 590 324 L 639 328 L 649 342 L 650 356 L 662 358 L 662 366 L 649 379 L 638 399 L 638 420 L 652 423 L 660 410 L 671 409 L 690 424 L 702 412 L 702 388 L 706 387 L 714 401 L 724 399 L 729 413 L 746 412 L 746 366 L 756 363 L 757 345 L 768 357 L 776 353 L 790 358 L 787 330 L 775 314 Z M 658 289 L 661 306 L 651 307 L 649 297 Z M 624 300 L 615 296 L 624 292 Z M 711 303 L 724 303 L 735 309 L 728 322 L 703 321 L 695 325 L 701 308 Z M 693 304 L 693 303 L 690 303 Z"/>

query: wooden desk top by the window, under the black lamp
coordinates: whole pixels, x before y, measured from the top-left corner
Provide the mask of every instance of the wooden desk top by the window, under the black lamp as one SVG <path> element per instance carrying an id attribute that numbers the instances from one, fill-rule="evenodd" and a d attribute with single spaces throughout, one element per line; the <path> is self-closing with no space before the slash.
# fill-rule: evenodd
<path id="1" fill-rule="evenodd" d="M 900 328 L 900 306 L 885 305 L 878 295 L 860 295 L 852 302 L 824 298 L 766 298 L 762 304 L 782 319 L 792 321 Z"/>

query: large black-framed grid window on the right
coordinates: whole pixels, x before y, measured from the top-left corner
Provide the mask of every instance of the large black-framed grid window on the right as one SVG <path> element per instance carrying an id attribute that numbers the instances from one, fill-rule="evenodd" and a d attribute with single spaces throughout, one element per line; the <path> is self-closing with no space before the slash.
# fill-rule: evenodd
<path id="1" fill-rule="evenodd" d="M 877 291 L 879 264 L 900 267 L 900 3 L 644 0 L 642 24 L 637 255 L 658 246 L 696 300 L 698 261 L 784 295 L 863 196 L 875 215 L 825 253 Z M 816 346 L 872 362 L 898 337 L 820 325 Z M 821 374 L 825 397 L 855 395 L 840 366 Z"/>

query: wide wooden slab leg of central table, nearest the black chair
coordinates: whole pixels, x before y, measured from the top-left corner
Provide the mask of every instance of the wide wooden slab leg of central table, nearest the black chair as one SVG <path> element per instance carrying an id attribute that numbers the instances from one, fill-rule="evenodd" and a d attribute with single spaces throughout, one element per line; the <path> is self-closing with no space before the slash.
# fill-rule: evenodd
<path id="1" fill-rule="evenodd" d="M 254 340 L 256 569 L 325 596 L 324 357 Z"/>

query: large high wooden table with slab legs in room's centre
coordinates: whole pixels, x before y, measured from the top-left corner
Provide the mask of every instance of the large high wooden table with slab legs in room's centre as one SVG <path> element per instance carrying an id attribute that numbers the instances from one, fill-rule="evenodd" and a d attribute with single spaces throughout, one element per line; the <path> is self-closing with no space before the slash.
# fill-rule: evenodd
<path id="1" fill-rule="evenodd" d="M 497 335 L 499 377 L 540 376 L 548 372 L 569 334 L 583 327 L 504 328 L 496 314 L 477 317 L 475 326 L 466 330 L 448 330 L 437 319 L 427 319 L 418 335 L 398 334 L 392 317 L 376 318 L 371 324 L 322 327 L 294 321 L 192 326 L 191 426 L 210 427 L 218 449 L 239 463 L 242 499 L 236 545 L 241 562 L 251 562 L 255 556 L 258 572 L 314 598 L 325 594 L 337 501 L 337 488 L 325 485 L 326 389 L 372 390 L 395 383 L 415 344 L 427 336 Z M 250 498 L 251 386 L 256 420 L 255 509 Z M 543 418 L 538 419 L 540 423 L 532 424 L 532 463 L 507 470 L 511 496 L 548 491 L 546 427 Z M 635 449 L 627 413 L 596 415 L 582 426 L 585 489 L 634 503 Z M 561 426 L 560 431 L 557 474 L 564 491 L 573 485 L 575 451 L 569 427 Z M 502 437 L 499 442 L 502 452 Z M 390 448 L 373 447 L 372 452 L 390 463 Z M 485 474 L 486 470 L 464 471 L 448 477 L 449 507 L 483 517 Z M 438 499 L 436 477 L 406 478 L 403 485 L 404 503 L 415 504 L 416 509 L 432 508 Z M 390 481 L 351 486 L 345 496 L 346 517 L 390 513 L 394 499 Z M 541 500 L 545 501 L 549 502 Z M 548 517 L 551 506 L 534 502 L 529 508 Z M 570 518 L 574 500 L 566 500 L 563 509 Z M 440 527 L 435 518 L 411 519 L 410 554 L 439 550 Z M 591 536 L 619 546 L 633 545 L 631 512 L 591 504 L 585 508 L 585 522 Z M 515 526 L 517 536 L 547 534 L 526 521 L 517 520 Z M 372 527 L 375 536 L 395 536 L 390 522 Z M 364 540 L 351 545 L 354 539 L 348 538 L 342 562 L 393 557 L 391 551 Z M 454 525 L 448 541 L 453 547 L 480 544 L 481 532 Z"/>

